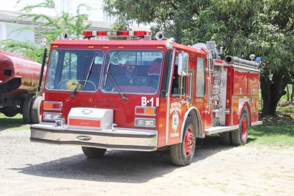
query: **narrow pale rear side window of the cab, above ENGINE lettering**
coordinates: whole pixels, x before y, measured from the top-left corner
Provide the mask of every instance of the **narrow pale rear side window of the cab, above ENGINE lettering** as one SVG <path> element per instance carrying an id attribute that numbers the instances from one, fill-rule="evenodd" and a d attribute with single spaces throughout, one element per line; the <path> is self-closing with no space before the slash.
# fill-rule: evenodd
<path id="1" fill-rule="evenodd" d="M 196 97 L 204 96 L 205 74 L 204 74 L 204 59 L 197 58 L 196 69 Z"/>

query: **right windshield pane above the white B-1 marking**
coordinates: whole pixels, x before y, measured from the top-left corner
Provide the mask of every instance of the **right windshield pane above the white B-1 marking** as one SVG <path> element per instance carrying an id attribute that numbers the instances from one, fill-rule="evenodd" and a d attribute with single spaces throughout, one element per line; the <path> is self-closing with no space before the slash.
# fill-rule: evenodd
<path id="1" fill-rule="evenodd" d="M 155 94 L 159 89 L 162 58 L 161 50 L 109 50 L 106 53 L 101 91 L 118 93 L 106 73 L 108 69 L 122 93 Z"/>

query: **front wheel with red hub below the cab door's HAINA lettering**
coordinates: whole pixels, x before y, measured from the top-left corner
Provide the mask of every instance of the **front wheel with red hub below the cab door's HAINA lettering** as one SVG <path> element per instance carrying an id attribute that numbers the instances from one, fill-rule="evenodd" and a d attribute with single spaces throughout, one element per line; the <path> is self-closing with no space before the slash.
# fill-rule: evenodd
<path id="1" fill-rule="evenodd" d="M 187 166 L 192 162 L 195 151 L 195 125 L 190 117 L 187 118 L 182 143 L 170 147 L 172 163 L 176 166 Z M 186 145 L 186 146 L 185 146 Z"/>

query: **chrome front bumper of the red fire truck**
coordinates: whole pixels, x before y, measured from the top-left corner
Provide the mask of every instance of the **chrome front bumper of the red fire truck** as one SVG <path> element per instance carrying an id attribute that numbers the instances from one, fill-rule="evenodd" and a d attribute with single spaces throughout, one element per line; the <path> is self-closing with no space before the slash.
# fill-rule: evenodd
<path id="1" fill-rule="evenodd" d="M 120 150 L 153 151 L 157 149 L 157 130 L 116 127 L 116 130 L 89 130 L 32 124 L 31 142 L 74 145 Z"/>

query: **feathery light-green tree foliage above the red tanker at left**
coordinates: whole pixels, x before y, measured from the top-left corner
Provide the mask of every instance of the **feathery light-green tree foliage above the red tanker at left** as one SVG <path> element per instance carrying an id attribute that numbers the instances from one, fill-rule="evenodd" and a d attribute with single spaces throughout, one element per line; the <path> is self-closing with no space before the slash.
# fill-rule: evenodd
<path id="1" fill-rule="evenodd" d="M 18 3 L 21 0 L 18 0 Z M 82 30 L 88 28 L 92 23 L 87 22 L 85 23 L 86 16 L 84 14 L 80 14 L 80 8 L 82 6 L 85 6 L 87 9 L 90 9 L 90 7 L 86 4 L 79 4 L 76 9 L 75 15 L 70 15 L 66 12 L 62 12 L 60 14 L 57 13 L 55 9 L 55 3 L 53 0 L 45 0 L 45 2 L 41 2 L 36 5 L 27 5 L 20 11 L 25 11 L 27 13 L 17 17 L 15 19 L 15 22 L 22 21 L 24 19 L 30 18 L 32 21 L 31 26 L 26 26 L 20 29 L 17 29 L 19 33 L 22 31 L 28 29 L 33 31 L 34 33 L 40 35 L 41 37 L 47 38 L 48 42 L 52 42 L 56 40 L 58 37 L 60 37 L 62 32 L 67 32 L 69 35 L 74 37 L 81 37 L 82 36 Z M 30 13 L 35 8 L 47 8 L 51 9 L 52 13 L 55 13 L 56 15 L 54 17 L 47 16 L 44 14 L 34 14 Z M 48 27 L 49 30 L 41 33 L 39 29 L 34 28 L 35 22 L 37 20 L 41 20 L 43 23 L 39 25 L 40 28 L 42 27 Z M 14 41 L 12 39 L 3 40 L 0 42 L 1 49 L 20 53 L 27 57 L 32 57 L 36 62 L 42 62 L 43 58 L 43 47 L 37 47 L 32 45 L 31 42 L 20 42 L 20 41 Z"/>

